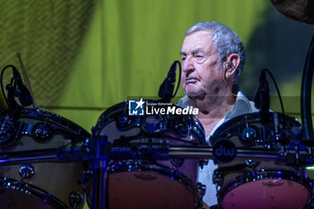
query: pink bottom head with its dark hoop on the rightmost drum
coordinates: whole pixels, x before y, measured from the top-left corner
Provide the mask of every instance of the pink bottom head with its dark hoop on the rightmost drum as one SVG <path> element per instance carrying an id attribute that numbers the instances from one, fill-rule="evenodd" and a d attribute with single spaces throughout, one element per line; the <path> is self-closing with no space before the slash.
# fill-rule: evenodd
<path id="1" fill-rule="evenodd" d="M 292 173 L 265 171 L 237 178 L 222 198 L 222 208 L 303 208 L 310 199 L 310 185 Z M 275 175 L 278 174 L 277 177 Z M 247 183 L 241 184 L 240 182 Z M 239 186 L 238 186 L 239 185 Z M 238 186 L 238 187 L 237 187 Z"/>

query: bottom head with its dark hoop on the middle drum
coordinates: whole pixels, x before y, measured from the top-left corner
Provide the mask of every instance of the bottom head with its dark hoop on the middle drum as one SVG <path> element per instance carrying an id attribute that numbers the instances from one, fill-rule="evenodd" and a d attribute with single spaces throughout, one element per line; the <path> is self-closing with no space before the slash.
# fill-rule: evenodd
<path id="1" fill-rule="evenodd" d="M 196 186 L 176 170 L 147 161 L 118 161 L 109 170 L 109 209 L 196 209 Z M 92 188 L 88 203 L 92 206 Z M 92 208 L 92 207 L 91 207 Z"/>

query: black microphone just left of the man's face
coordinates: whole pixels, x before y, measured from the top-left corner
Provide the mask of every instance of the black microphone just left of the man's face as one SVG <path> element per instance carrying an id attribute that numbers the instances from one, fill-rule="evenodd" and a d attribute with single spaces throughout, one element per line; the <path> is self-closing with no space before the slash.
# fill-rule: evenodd
<path id="1" fill-rule="evenodd" d="M 164 102 L 170 102 L 172 99 L 174 84 L 176 83 L 177 63 L 179 63 L 178 60 L 174 61 L 170 66 L 170 71 L 159 88 L 158 96 Z"/>

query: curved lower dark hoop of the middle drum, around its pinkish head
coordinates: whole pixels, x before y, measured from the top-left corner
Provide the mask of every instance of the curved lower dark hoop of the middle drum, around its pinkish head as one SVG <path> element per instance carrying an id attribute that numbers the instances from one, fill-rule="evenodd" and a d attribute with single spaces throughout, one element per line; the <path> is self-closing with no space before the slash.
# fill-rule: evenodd
<path id="1" fill-rule="evenodd" d="M 132 164 L 132 166 L 130 166 Z M 115 169 L 115 167 L 118 167 Z M 195 209 L 201 208 L 201 198 L 198 194 L 197 188 L 193 187 L 193 183 L 184 174 L 179 173 L 177 170 L 171 170 L 169 167 L 160 165 L 153 161 L 114 161 L 110 163 L 108 174 L 115 174 L 120 172 L 132 172 L 132 171 L 150 171 L 153 173 L 161 174 L 170 179 L 175 179 L 183 186 L 187 187 L 188 191 L 194 196 Z M 91 189 L 88 189 L 90 191 Z M 92 200 L 90 196 L 87 198 L 87 203 L 91 207 Z M 92 207 L 91 207 L 92 208 Z"/>

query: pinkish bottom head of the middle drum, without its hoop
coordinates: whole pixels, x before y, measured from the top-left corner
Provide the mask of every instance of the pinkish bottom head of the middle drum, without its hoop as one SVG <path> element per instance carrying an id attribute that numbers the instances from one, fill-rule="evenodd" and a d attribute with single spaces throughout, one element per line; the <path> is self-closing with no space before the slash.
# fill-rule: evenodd
<path id="1" fill-rule="evenodd" d="M 109 177 L 110 209 L 191 209 L 195 197 L 179 181 L 153 172 L 120 172 Z"/>

